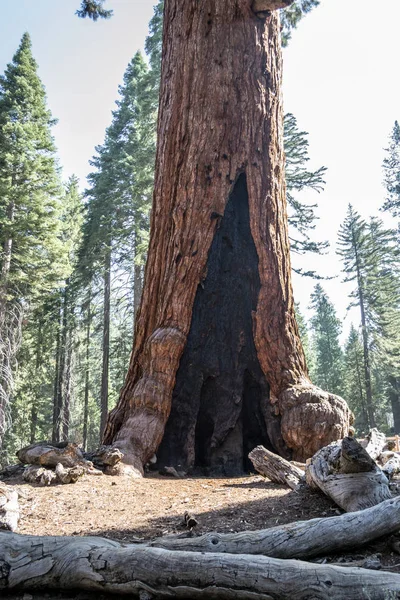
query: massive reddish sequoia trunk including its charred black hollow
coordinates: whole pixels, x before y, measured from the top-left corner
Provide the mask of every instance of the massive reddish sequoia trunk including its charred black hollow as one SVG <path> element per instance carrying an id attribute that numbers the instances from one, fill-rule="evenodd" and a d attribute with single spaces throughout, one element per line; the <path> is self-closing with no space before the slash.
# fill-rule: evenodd
<path id="1" fill-rule="evenodd" d="M 166 0 L 151 238 L 131 364 L 104 442 L 124 470 L 304 459 L 350 412 L 308 378 L 292 297 L 277 12 Z M 167 422 L 168 421 L 168 422 Z M 163 439 L 164 438 L 164 439 Z"/>

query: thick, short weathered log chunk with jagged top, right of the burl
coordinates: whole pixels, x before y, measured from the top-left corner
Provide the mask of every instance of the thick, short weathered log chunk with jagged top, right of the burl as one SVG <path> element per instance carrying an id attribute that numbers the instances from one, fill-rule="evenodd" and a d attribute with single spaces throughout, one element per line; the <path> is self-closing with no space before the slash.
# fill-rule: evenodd
<path id="1" fill-rule="evenodd" d="M 347 512 L 368 508 L 391 498 L 387 477 L 351 437 L 314 454 L 306 466 L 306 480 Z"/>

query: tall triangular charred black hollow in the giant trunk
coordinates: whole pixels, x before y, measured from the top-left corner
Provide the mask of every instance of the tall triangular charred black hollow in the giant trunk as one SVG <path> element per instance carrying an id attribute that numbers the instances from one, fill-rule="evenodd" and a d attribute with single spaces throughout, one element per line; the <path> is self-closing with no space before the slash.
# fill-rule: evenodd
<path id="1" fill-rule="evenodd" d="M 245 173 L 224 215 L 211 218 L 218 219 L 218 228 L 158 457 L 162 466 L 233 475 L 252 468 L 247 455 L 258 444 L 274 449 L 268 430 L 276 419 L 253 338 L 261 284 Z"/>

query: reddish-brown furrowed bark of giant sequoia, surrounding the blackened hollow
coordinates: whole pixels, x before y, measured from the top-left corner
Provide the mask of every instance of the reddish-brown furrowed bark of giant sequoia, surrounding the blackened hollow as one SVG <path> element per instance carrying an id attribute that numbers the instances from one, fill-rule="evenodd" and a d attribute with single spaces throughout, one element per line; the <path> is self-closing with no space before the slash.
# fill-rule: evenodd
<path id="1" fill-rule="evenodd" d="M 289 3 L 282 0 L 280 5 Z M 253 339 L 248 343 L 255 346 L 269 388 L 263 414 L 275 423 L 270 445 L 302 459 L 348 431 L 346 403 L 317 390 L 308 379 L 295 321 L 279 16 L 266 12 L 276 2 L 257 4 L 262 12 L 255 14 L 251 0 L 229 5 L 226 0 L 165 2 L 159 141 L 143 298 L 129 372 L 104 436 L 104 443 L 125 454 L 132 473 L 142 472 L 163 438 L 196 292 L 207 285 L 210 248 L 239 181 L 245 186 L 239 200 L 246 196 L 250 241 L 257 255 L 256 304 L 249 315 Z M 224 351 L 239 354 L 240 348 L 218 352 Z M 215 402 L 218 410 L 218 398 Z M 240 402 L 239 397 L 232 407 Z M 185 453 L 191 457 L 186 466 L 193 466 L 193 451 Z"/>

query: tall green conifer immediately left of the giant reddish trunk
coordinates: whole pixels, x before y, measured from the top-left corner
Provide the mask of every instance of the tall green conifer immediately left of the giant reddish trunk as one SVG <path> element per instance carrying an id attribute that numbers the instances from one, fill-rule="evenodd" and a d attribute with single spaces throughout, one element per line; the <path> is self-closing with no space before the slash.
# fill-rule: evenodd
<path id="1" fill-rule="evenodd" d="M 146 257 L 155 154 L 154 106 L 158 93 L 148 74 L 146 62 L 137 53 L 124 75 L 120 100 L 105 142 L 96 149 L 97 155 L 91 163 L 96 171 L 89 175 L 91 187 L 86 193 L 82 262 L 90 266 L 92 278 L 100 267 L 104 279 L 101 430 L 109 398 L 112 272 L 118 271 L 115 283 L 125 292 L 133 279 L 125 296 L 133 298 L 137 307 Z M 133 331 L 132 321 L 130 331 Z"/>

